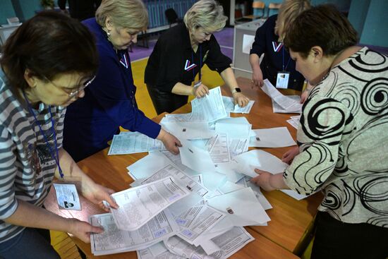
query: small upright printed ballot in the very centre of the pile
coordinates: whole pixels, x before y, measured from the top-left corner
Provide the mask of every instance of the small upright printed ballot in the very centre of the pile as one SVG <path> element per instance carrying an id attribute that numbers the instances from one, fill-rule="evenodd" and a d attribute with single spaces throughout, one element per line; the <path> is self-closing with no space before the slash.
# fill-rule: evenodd
<path id="1" fill-rule="evenodd" d="M 210 157 L 214 164 L 231 161 L 229 154 L 229 140 L 226 133 L 220 133 L 207 141 Z"/>

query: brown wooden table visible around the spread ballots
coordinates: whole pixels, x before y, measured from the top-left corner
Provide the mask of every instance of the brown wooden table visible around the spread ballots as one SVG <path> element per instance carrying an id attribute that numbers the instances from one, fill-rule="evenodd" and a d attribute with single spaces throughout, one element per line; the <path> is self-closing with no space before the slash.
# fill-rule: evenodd
<path id="1" fill-rule="evenodd" d="M 232 116 L 246 116 L 250 124 L 253 124 L 253 128 L 287 126 L 293 138 L 296 138 L 296 129 L 286 123 L 290 114 L 273 114 L 269 97 L 262 90 L 250 88 L 250 80 L 238 78 L 238 85 L 250 100 L 255 100 L 256 102 L 250 114 L 233 114 Z M 224 88 L 222 89 L 224 95 L 230 96 L 231 93 L 228 91 Z M 295 91 L 288 92 L 290 94 L 296 93 Z M 174 113 L 187 113 L 190 110 L 190 104 L 187 104 Z M 164 114 L 161 114 L 154 120 L 159 121 L 163 116 Z M 262 150 L 281 157 L 289 148 L 263 148 Z M 97 183 L 113 188 L 116 191 L 125 190 L 133 182 L 133 179 L 128 176 L 126 167 L 145 157 L 147 153 L 108 157 L 108 150 L 107 148 L 97 152 L 95 155 L 78 162 L 78 165 L 85 171 L 85 174 L 89 175 Z M 232 255 L 231 258 L 298 258 L 292 252 L 297 250 L 299 241 L 317 212 L 317 206 L 322 200 L 322 195 L 317 193 L 305 200 L 298 201 L 280 191 L 263 193 L 273 206 L 273 209 L 267 210 L 271 221 L 268 222 L 267 227 L 248 227 L 247 230 L 255 237 L 255 241 Z M 102 212 L 87 200 L 81 198 L 81 201 L 83 210 L 80 212 L 59 210 L 54 191 L 51 190 L 44 205 L 48 210 L 63 217 L 75 217 L 82 220 L 87 220 L 88 215 Z M 87 258 L 95 258 L 90 252 L 89 243 L 83 243 L 75 237 L 73 237 L 73 240 L 87 255 Z M 120 253 L 117 255 L 98 256 L 96 258 L 136 258 L 136 253 Z"/>

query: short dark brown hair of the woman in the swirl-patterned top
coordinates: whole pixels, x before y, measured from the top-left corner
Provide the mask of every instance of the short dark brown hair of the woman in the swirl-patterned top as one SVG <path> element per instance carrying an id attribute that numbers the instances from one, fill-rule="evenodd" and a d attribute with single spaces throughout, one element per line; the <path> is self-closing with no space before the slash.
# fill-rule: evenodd
<path id="1" fill-rule="evenodd" d="M 306 58 L 314 46 L 325 56 L 338 54 L 357 43 L 357 32 L 332 5 L 321 5 L 301 13 L 287 31 L 284 44 Z"/>

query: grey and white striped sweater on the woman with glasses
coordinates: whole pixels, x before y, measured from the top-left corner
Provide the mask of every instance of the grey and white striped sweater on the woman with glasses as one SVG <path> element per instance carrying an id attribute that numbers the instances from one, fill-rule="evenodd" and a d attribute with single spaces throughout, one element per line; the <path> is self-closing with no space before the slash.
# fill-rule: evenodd
<path id="1" fill-rule="evenodd" d="M 54 151 L 49 106 L 41 103 L 34 112 Z M 51 107 L 58 148 L 62 146 L 65 112 Z M 24 229 L 3 221 L 16 211 L 18 200 L 42 206 L 55 169 L 56 162 L 26 102 L 13 95 L 0 69 L 0 242 Z"/>

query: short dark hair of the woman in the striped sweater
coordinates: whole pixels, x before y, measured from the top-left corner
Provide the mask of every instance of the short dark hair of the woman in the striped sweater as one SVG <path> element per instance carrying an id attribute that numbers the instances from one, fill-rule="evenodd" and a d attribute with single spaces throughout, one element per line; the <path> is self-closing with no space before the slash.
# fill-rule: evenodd
<path id="1" fill-rule="evenodd" d="M 8 38 L 0 64 L 11 89 L 24 90 L 27 68 L 40 80 L 74 72 L 90 77 L 97 72 L 98 54 L 85 25 L 58 12 L 42 11 Z"/>

